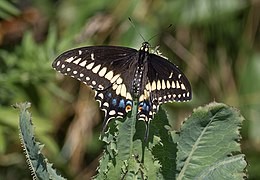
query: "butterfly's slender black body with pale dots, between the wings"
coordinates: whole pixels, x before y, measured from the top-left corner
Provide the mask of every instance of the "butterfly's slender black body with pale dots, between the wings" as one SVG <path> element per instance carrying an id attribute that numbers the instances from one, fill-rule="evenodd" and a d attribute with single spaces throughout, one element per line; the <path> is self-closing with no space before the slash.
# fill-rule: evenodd
<path id="1" fill-rule="evenodd" d="M 144 42 L 139 50 L 138 66 L 136 67 L 133 79 L 133 95 L 134 98 L 138 98 L 141 92 L 142 79 L 144 76 L 144 68 L 149 55 L 149 43 Z"/>

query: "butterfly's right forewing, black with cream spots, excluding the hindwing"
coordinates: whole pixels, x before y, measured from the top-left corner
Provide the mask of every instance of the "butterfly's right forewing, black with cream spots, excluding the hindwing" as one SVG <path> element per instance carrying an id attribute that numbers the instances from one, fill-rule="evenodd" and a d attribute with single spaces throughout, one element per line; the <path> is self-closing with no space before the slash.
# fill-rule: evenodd
<path id="1" fill-rule="evenodd" d="M 155 82 L 152 92 L 158 102 L 183 102 L 191 99 L 191 87 L 186 76 L 170 61 L 151 54 L 148 69 L 148 80 Z M 150 74 L 156 74 L 151 77 Z"/>

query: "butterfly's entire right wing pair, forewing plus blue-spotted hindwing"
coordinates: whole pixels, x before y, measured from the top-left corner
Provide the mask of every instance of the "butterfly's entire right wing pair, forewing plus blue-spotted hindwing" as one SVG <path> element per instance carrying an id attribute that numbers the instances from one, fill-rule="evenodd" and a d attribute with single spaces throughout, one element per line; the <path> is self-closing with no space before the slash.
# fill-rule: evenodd
<path id="1" fill-rule="evenodd" d="M 149 123 L 162 103 L 191 100 L 188 79 L 167 59 L 149 54 L 145 73 L 143 94 L 139 98 L 139 120 Z"/>

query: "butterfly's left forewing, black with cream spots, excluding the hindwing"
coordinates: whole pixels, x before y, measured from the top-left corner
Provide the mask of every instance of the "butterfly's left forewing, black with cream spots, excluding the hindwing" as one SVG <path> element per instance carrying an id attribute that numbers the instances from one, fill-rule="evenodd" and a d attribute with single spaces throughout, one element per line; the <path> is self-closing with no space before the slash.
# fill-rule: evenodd
<path id="1" fill-rule="evenodd" d="M 111 86 L 111 80 L 119 78 L 125 70 L 123 67 L 127 67 L 123 65 L 136 53 L 134 49 L 114 46 L 84 47 L 61 54 L 52 66 L 62 74 L 77 78 L 94 90 L 103 90 Z"/>

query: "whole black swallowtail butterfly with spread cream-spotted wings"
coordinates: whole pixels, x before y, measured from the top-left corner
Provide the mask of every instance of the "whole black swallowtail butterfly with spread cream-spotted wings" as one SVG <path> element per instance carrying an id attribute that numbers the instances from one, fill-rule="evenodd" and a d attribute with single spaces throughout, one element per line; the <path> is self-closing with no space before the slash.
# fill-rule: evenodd
<path id="1" fill-rule="evenodd" d="M 167 59 L 149 53 L 149 47 L 148 42 L 139 51 L 118 46 L 81 47 L 64 52 L 52 66 L 95 91 L 105 112 L 103 130 L 112 118 L 124 118 L 137 100 L 137 119 L 146 122 L 148 133 L 160 104 L 192 97 L 185 75 Z"/>

